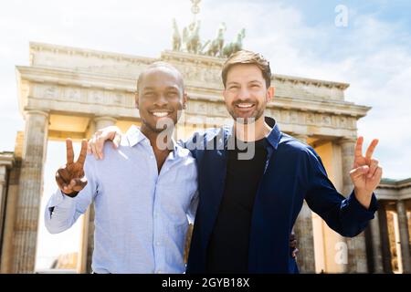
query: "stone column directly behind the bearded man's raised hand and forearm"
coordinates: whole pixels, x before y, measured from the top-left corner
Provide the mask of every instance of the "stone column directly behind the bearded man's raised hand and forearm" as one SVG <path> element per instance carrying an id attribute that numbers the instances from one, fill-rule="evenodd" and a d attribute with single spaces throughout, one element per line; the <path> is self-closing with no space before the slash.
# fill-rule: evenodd
<path id="1" fill-rule="evenodd" d="M 340 141 L 342 152 L 342 194 L 348 196 L 353 192 L 353 183 L 350 171 L 353 168 L 354 148 L 356 138 L 343 138 Z M 353 237 L 346 238 L 348 245 L 347 273 L 367 273 L 367 256 L 364 232 Z"/>

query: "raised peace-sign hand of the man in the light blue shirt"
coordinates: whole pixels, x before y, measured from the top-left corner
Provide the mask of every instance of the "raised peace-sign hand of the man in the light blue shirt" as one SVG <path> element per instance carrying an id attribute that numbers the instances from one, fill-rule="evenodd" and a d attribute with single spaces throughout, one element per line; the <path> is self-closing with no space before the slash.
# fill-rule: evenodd
<path id="1" fill-rule="evenodd" d="M 83 170 L 86 161 L 87 140 L 81 141 L 81 151 L 77 162 L 73 162 L 73 142 L 69 138 L 66 140 L 66 147 L 67 163 L 56 172 L 56 182 L 61 192 L 70 197 L 75 197 L 87 184 Z"/>

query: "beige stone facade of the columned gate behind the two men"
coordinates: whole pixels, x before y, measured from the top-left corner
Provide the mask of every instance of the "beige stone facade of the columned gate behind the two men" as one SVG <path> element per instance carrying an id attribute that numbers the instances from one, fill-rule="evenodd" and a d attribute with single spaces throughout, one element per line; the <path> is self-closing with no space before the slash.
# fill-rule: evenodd
<path id="1" fill-rule="evenodd" d="M 31 43 L 29 50 L 29 66 L 16 67 L 19 108 L 26 120 L 26 130 L 21 155 L 15 153 L 16 160 L 20 157 L 21 162 L 17 185 L 9 186 L 5 203 L 5 218 L 9 222 L 3 227 L 8 228 L 1 254 L 5 273 L 34 271 L 37 218 L 43 212 L 39 202 L 47 141 L 66 137 L 79 140 L 107 125 L 127 130 L 133 123 L 139 124 L 134 91 L 136 78 L 148 64 L 167 61 L 184 75 L 189 102 L 176 132 L 177 139 L 230 120 L 221 94 L 222 58 L 175 51 L 148 58 L 39 43 Z M 353 165 L 356 122 L 370 108 L 346 101 L 345 83 L 282 75 L 274 75 L 272 81 L 276 95 L 267 115 L 279 122 L 280 130 L 314 147 L 336 188 L 350 193 L 348 173 Z M 401 226 L 407 207 L 406 202 L 397 205 Z M 92 208 L 86 218 L 79 272 L 90 271 Z M 300 241 L 298 260 L 302 272 L 372 271 L 364 234 L 350 240 L 342 238 L 305 204 L 295 230 Z M 406 235 L 404 228 L 400 231 L 401 236 Z M 374 254 L 375 259 L 380 258 L 377 252 Z M 409 260 L 409 253 L 403 254 L 402 259 L 408 256 Z M 406 264 L 403 266 L 406 271 Z"/>

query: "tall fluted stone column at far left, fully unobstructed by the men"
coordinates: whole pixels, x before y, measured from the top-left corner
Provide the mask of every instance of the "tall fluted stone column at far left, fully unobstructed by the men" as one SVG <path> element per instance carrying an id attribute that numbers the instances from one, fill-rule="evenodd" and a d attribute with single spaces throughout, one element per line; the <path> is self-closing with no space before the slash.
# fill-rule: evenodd
<path id="1" fill-rule="evenodd" d="M 16 205 L 14 273 L 34 272 L 38 214 L 47 151 L 48 113 L 28 110 L 25 118 L 23 161 Z"/>

